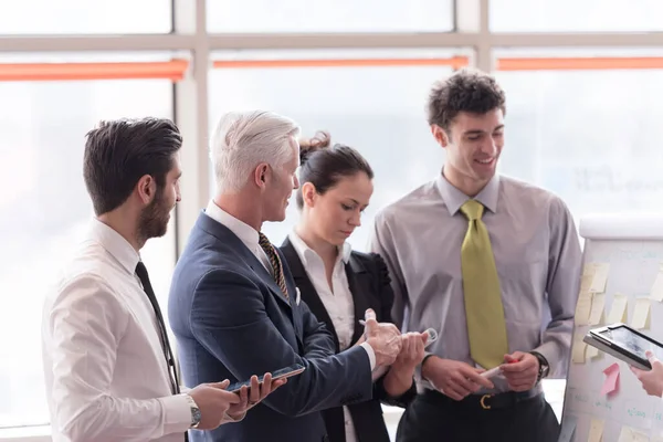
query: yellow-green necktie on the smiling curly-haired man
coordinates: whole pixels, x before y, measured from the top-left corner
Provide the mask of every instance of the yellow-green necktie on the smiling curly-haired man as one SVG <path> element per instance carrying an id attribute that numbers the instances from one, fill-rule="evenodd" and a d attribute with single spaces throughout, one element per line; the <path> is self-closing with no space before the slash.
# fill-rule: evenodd
<path id="1" fill-rule="evenodd" d="M 469 200 L 461 207 L 467 217 L 467 233 L 461 249 L 463 292 L 470 354 L 485 369 L 504 361 L 508 352 L 499 276 L 486 225 L 481 220 L 484 207 Z"/>

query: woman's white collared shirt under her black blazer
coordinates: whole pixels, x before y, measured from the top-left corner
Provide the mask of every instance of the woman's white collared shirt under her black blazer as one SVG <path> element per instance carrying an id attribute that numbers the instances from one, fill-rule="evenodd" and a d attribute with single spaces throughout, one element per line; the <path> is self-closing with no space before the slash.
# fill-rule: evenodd
<path id="1" fill-rule="evenodd" d="M 332 286 L 329 286 L 325 263 L 320 255 L 311 249 L 296 232 L 291 232 L 288 238 L 302 261 L 306 275 L 329 314 L 332 324 L 336 329 L 338 346 L 340 351 L 343 351 L 350 346 L 352 335 L 355 334 L 355 299 L 352 298 L 348 275 L 345 271 L 345 264 L 350 259 L 352 248 L 346 242 L 339 249 L 338 257 L 332 272 Z M 347 407 L 343 408 L 343 414 L 345 419 L 346 442 L 356 442 L 357 432 L 355 431 L 355 423 Z"/>

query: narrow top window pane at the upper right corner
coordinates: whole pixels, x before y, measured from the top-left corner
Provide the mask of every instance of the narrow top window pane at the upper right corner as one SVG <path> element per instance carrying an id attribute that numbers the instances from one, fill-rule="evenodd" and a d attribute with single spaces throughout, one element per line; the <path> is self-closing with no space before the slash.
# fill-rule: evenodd
<path id="1" fill-rule="evenodd" d="M 629 32 L 663 30 L 660 0 L 491 0 L 496 32 Z"/>

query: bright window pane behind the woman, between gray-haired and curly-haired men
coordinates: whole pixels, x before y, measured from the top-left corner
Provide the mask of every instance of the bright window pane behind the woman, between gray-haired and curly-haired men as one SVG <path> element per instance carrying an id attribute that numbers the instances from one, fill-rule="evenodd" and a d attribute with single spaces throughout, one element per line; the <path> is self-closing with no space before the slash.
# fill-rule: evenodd
<path id="1" fill-rule="evenodd" d="M 316 54 L 319 59 L 337 56 Z M 282 56 L 288 55 L 301 56 Z M 376 56 L 376 52 L 365 55 Z M 346 52 L 345 56 L 358 54 Z M 410 52 L 408 56 L 420 55 Z M 356 250 L 365 250 L 376 210 L 440 171 L 442 149 L 430 135 L 424 107 L 432 83 L 450 72 L 445 66 L 214 70 L 210 124 L 213 128 L 228 110 L 271 109 L 294 118 L 305 135 L 328 129 L 333 143 L 358 149 L 375 171 L 375 192 L 362 227 L 349 239 Z M 293 198 L 286 221 L 265 224 L 263 230 L 281 244 L 297 219 Z"/>

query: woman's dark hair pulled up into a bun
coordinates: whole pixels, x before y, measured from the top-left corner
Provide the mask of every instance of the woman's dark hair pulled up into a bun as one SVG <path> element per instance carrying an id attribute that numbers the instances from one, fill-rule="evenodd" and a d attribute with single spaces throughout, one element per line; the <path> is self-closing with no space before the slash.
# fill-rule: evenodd
<path id="1" fill-rule="evenodd" d="M 356 149 L 336 144 L 329 147 L 329 133 L 318 130 L 311 139 L 299 139 L 299 182 L 311 182 L 316 192 L 325 193 L 338 183 L 343 177 L 351 177 L 365 172 L 368 179 L 373 178 L 373 171 Z M 297 207 L 304 207 L 302 188 L 297 190 Z"/>

